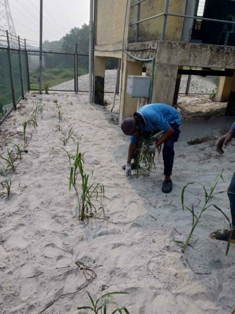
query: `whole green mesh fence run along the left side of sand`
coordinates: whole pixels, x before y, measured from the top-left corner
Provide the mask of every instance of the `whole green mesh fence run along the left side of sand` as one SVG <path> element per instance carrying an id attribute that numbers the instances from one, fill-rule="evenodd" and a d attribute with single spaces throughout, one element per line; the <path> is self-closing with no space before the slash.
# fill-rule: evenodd
<path id="1" fill-rule="evenodd" d="M 22 81 L 24 88 L 22 88 Z M 28 91 L 26 51 L 0 48 L 0 124 L 26 91 Z"/>

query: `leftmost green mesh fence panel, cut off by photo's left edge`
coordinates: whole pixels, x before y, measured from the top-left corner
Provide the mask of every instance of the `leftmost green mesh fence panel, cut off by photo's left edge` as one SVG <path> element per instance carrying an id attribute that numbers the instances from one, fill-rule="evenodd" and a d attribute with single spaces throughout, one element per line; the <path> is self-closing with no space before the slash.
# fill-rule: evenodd
<path id="1" fill-rule="evenodd" d="M 0 124 L 14 108 L 10 62 L 7 50 L 0 50 Z"/>

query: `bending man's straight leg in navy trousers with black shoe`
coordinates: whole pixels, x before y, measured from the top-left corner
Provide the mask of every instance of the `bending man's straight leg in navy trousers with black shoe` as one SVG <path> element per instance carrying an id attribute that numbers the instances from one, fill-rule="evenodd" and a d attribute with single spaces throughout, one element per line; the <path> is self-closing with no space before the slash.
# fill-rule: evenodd
<path id="1" fill-rule="evenodd" d="M 174 133 L 164 142 L 164 147 L 162 150 L 162 156 L 164 161 L 164 176 L 165 180 L 162 186 L 162 192 L 169 193 L 172 190 L 172 182 L 170 176 L 172 174 L 172 168 L 174 163 L 174 143 L 178 140 L 180 136 L 180 130 L 178 125 L 174 128 Z"/>

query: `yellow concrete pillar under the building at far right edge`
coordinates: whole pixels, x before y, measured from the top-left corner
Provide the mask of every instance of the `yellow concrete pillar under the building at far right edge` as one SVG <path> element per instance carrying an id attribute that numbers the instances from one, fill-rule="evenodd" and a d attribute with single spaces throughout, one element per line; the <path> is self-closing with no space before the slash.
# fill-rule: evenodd
<path id="1" fill-rule="evenodd" d="M 215 100 L 217 101 L 228 100 L 231 90 L 235 91 L 235 72 L 233 77 L 220 76 L 219 83 L 217 85 Z"/>

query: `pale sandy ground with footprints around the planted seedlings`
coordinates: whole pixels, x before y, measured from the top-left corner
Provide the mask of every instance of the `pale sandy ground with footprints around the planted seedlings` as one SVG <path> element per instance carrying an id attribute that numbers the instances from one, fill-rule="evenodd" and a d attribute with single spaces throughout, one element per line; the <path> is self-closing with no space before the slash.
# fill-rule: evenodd
<path id="1" fill-rule="evenodd" d="M 191 230 L 191 214 L 180 205 L 185 184 L 199 181 L 209 189 L 224 168 L 224 182 L 217 186 L 217 191 L 224 191 L 234 171 L 235 142 L 219 156 L 213 139 L 230 127 L 234 117 L 223 116 L 224 103 L 196 97 L 179 97 L 180 109 L 195 119 L 182 120 L 170 194 L 161 192 L 162 156 L 149 176 L 141 173 L 137 179 L 133 171 L 130 178 L 125 177 L 122 165 L 129 139 L 117 124 L 118 97 L 112 113 L 110 104 L 89 104 L 88 95 L 82 93 L 50 92 L 36 97 L 30 93 L 20 102 L 1 125 L 4 156 L 14 143 L 23 148 L 23 135 L 17 129 L 35 109 L 33 101 L 41 102 L 43 111 L 36 131 L 28 128 L 28 154 L 15 162 L 14 173 L 8 170 L 11 195 L 0 198 L 1 313 L 91 313 L 76 309 L 90 305 L 86 290 L 95 300 L 106 292 L 128 292 L 112 300 L 131 314 L 232 312 L 235 245 L 231 244 L 226 257 L 227 244 L 208 236 L 212 230 L 228 228 L 223 215 L 208 208 L 185 253 L 174 242 L 185 241 Z M 112 95 L 106 94 L 105 99 L 111 102 Z M 53 100 L 61 106 L 60 122 Z M 58 124 L 62 131 L 57 131 Z M 98 210 L 97 218 L 85 222 L 77 218 L 75 192 L 69 192 L 68 157 L 60 149 L 49 157 L 53 147 L 63 146 L 61 132 L 68 133 L 71 127 L 78 134 L 80 151 L 85 152 L 84 169 L 93 171 L 90 182 L 103 183 L 109 198 L 103 203 L 105 213 Z M 210 140 L 188 144 L 205 136 Z M 75 153 L 76 143 L 70 140 L 66 149 Z M 196 214 L 204 198 L 200 185 L 185 192 L 185 203 L 193 204 Z M 226 193 L 217 194 L 212 203 L 230 217 Z M 96 278 L 85 277 L 76 261 L 91 268 Z"/>

